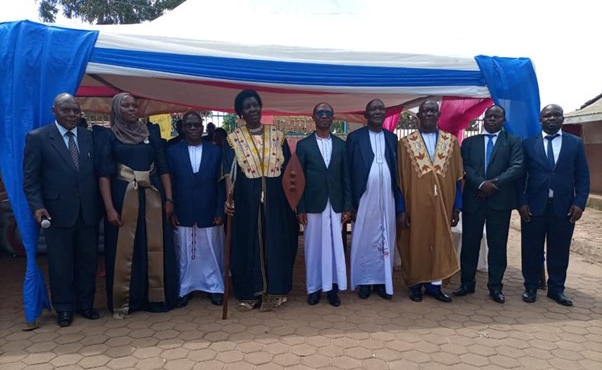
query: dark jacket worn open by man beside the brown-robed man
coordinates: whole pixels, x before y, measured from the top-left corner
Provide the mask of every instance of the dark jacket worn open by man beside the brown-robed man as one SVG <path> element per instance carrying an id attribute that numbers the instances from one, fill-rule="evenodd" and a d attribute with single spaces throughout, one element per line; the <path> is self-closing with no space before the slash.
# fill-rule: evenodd
<path id="1" fill-rule="evenodd" d="M 366 191 L 368 175 L 374 161 L 368 131 L 368 127 L 365 126 L 347 136 L 351 199 L 355 209 L 359 207 L 360 198 Z M 391 189 L 393 189 L 393 195 L 395 196 L 395 212 L 405 212 L 405 203 L 397 183 L 397 136 L 387 130 L 383 130 L 383 132 L 385 134 L 385 160 L 391 172 Z"/>

